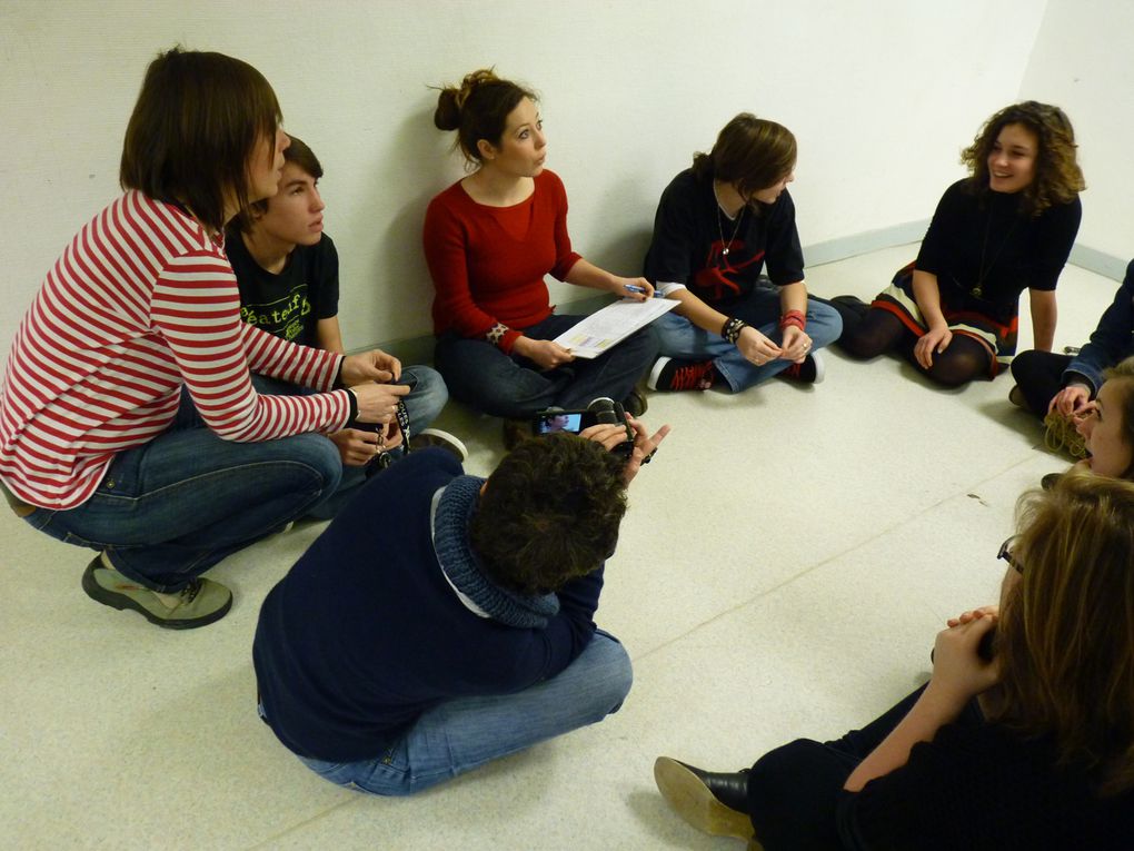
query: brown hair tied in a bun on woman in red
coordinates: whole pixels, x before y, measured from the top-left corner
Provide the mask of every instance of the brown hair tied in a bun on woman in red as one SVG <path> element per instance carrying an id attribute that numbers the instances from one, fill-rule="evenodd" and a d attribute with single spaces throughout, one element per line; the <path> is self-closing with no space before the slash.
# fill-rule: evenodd
<path id="1" fill-rule="evenodd" d="M 437 99 L 433 125 L 441 130 L 457 130 L 456 145 L 465 162 L 481 162 L 476 143 L 482 138 L 497 146 L 508 125 L 508 116 L 527 98 L 535 94 L 518 83 L 500 79 L 492 68 L 466 74 L 459 86 L 446 86 Z"/>

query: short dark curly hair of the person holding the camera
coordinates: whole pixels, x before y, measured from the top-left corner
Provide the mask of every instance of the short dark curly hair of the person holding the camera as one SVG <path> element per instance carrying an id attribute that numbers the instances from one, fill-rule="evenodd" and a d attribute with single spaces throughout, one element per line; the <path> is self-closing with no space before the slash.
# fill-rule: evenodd
<path id="1" fill-rule="evenodd" d="M 485 483 L 469 541 L 485 573 L 518 593 L 547 593 L 615 551 L 626 513 L 623 458 L 593 440 L 525 440 Z"/>

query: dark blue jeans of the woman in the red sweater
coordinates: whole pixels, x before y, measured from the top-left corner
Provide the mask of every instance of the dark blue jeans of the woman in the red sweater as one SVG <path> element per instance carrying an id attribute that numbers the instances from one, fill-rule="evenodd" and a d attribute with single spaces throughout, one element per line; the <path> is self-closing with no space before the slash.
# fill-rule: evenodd
<path id="1" fill-rule="evenodd" d="M 555 339 L 584 318 L 552 314 L 525 328 L 524 336 Z M 433 362 L 455 399 L 493 416 L 524 419 L 551 406 L 583 408 L 599 396 L 621 402 L 657 354 L 657 339 L 646 327 L 594 360 L 579 357 L 543 372 L 485 340 L 447 334 L 437 342 Z"/>

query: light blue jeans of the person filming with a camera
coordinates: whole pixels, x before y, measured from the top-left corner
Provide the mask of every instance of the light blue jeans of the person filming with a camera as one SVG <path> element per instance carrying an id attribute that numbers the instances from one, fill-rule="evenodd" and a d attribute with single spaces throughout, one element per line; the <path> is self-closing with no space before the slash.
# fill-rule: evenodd
<path id="1" fill-rule="evenodd" d="M 378 759 L 299 759 L 340 786 L 408 795 L 602 721 L 621 706 L 632 680 L 626 650 L 599 630 L 558 676 L 515 694 L 458 698 L 433 707 Z"/>

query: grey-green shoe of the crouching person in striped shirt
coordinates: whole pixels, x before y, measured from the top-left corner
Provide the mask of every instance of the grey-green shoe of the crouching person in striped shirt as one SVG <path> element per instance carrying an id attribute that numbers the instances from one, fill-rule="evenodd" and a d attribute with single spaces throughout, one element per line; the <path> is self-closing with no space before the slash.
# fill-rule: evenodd
<path id="1" fill-rule="evenodd" d="M 117 609 L 134 609 L 167 630 L 193 630 L 219 621 L 232 607 L 232 592 L 219 582 L 194 579 L 176 595 L 172 607 L 149 588 L 103 566 L 96 556 L 83 573 L 83 590 L 92 600 Z"/>

